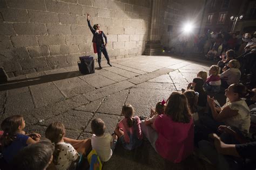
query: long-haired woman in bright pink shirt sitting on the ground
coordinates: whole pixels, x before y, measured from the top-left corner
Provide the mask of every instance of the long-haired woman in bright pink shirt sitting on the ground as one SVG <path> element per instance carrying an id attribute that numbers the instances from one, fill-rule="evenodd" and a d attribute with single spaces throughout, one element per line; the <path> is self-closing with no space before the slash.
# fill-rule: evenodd
<path id="1" fill-rule="evenodd" d="M 193 152 L 194 124 L 184 94 L 174 91 L 164 115 L 154 122 L 156 131 L 142 123 L 142 131 L 161 157 L 178 163 Z"/>

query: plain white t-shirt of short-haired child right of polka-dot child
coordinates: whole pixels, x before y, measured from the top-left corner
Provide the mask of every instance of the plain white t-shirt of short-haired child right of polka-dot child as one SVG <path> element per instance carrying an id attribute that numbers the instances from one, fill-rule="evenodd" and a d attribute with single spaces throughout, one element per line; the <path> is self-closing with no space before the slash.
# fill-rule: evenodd
<path id="1" fill-rule="evenodd" d="M 92 149 L 96 150 L 101 161 L 106 162 L 111 158 L 113 153 L 110 147 L 112 141 L 113 137 L 110 133 L 104 133 L 102 136 L 92 134 Z"/>

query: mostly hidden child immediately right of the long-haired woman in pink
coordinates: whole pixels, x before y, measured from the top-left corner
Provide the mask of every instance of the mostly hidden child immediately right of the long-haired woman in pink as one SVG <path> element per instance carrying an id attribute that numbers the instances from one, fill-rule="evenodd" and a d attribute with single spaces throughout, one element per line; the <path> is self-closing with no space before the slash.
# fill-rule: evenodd
<path id="1" fill-rule="evenodd" d="M 197 112 L 197 103 L 199 93 L 195 92 L 194 90 L 186 90 L 184 95 L 187 98 L 188 108 L 190 108 L 194 121 L 198 121 L 199 117 Z"/>

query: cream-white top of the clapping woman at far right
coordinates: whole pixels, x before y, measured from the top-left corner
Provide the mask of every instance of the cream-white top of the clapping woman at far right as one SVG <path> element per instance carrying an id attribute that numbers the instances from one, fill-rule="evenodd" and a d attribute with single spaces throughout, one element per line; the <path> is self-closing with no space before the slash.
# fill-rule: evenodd
<path id="1" fill-rule="evenodd" d="M 251 126 L 251 115 L 246 102 L 244 100 L 232 103 L 227 102 L 222 108 L 226 107 L 226 105 L 228 105 L 232 110 L 238 110 L 238 115 L 227 118 L 224 123 L 228 126 L 235 126 L 242 133 L 248 135 Z"/>

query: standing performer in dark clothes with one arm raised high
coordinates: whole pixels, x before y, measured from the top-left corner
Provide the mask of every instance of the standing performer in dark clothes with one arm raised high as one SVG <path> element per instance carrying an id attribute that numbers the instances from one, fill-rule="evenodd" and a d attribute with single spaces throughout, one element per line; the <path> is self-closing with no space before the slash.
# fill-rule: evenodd
<path id="1" fill-rule="evenodd" d="M 94 49 L 95 53 L 96 52 L 98 53 L 99 68 L 102 69 L 102 66 L 100 65 L 100 61 L 102 60 L 102 53 L 107 60 L 107 64 L 111 66 L 110 61 L 109 61 L 109 55 L 107 54 L 107 51 L 106 51 L 106 45 L 107 45 L 106 35 L 103 33 L 103 31 L 99 30 L 99 28 L 100 28 L 99 24 L 95 24 L 95 25 L 93 25 L 93 27 L 91 26 L 89 13 L 87 13 L 87 23 L 88 23 L 88 26 L 89 26 L 92 34 L 93 34 L 93 38 L 92 38 L 93 49 Z M 105 38 L 105 44 L 104 44 L 103 37 Z"/>

